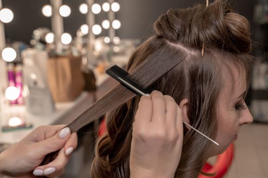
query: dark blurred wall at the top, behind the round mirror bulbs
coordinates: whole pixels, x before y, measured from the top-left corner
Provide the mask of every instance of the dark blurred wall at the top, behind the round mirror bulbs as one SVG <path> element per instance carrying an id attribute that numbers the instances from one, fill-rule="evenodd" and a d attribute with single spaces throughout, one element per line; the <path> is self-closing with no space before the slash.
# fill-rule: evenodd
<path id="1" fill-rule="evenodd" d="M 10 8 L 14 13 L 12 22 L 5 24 L 6 37 L 11 40 L 19 40 L 29 43 L 34 29 L 38 27 L 51 28 L 50 18 L 44 17 L 41 9 L 49 0 L 2 0 L 4 8 Z M 77 29 L 85 23 L 85 15 L 79 12 L 80 4 L 84 0 L 63 0 L 63 4 L 69 5 L 72 12 L 64 18 L 64 31 L 75 36 Z M 104 0 L 95 0 L 96 3 L 104 3 Z M 117 0 L 120 11 L 116 18 L 121 21 L 121 28 L 116 35 L 121 38 L 142 38 L 152 31 L 152 24 L 161 13 L 170 8 L 187 8 L 195 3 L 204 3 L 205 0 Z M 250 21 L 253 17 L 253 0 L 231 1 L 235 9 Z M 96 23 L 101 24 L 107 16 L 102 12 L 96 15 Z M 104 30 L 101 36 L 107 35 Z"/>

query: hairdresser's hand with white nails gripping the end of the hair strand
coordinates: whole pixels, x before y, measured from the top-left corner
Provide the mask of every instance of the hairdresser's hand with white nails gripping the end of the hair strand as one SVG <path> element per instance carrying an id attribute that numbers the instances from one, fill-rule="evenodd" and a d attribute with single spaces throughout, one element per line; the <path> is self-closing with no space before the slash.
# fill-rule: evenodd
<path id="1" fill-rule="evenodd" d="M 70 153 L 77 147 L 77 134 L 65 125 L 41 126 L 0 154 L 0 171 L 19 177 L 45 175 L 56 177 L 64 173 Z M 39 166 L 48 153 L 60 150 L 50 163 Z"/>

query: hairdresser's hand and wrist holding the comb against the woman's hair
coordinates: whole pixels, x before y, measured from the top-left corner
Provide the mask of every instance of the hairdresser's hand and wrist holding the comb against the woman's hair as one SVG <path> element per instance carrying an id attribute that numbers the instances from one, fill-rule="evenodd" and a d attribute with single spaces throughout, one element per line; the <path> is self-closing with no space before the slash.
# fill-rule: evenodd
<path id="1" fill-rule="evenodd" d="M 131 178 L 174 177 L 183 141 L 182 114 L 170 96 L 142 96 L 133 123 Z"/>

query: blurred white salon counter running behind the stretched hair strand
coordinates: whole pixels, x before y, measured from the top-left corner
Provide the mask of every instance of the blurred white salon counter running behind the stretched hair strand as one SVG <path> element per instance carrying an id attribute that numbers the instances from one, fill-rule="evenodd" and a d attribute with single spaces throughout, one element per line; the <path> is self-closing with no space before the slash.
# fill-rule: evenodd
<path id="1" fill-rule="evenodd" d="M 126 65 L 128 56 L 117 56 L 113 63 L 119 66 Z M 93 102 L 94 96 L 98 100 L 118 82 L 108 75 L 99 74 L 95 71 L 96 85 L 98 90 L 95 93 L 83 92 L 75 101 L 56 103 L 56 110 L 47 115 L 33 115 L 27 112 L 25 106 L 9 106 L 0 112 L 0 127 L 7 125 L 11 117 L 20 117 L 25 122 L 33 124 L 32 128 L 0 132 L 0 141 L 3 143 L 15 143 L 29 134 L 33 129 L 41 125 L 68 124 L 85 111 Z"/>

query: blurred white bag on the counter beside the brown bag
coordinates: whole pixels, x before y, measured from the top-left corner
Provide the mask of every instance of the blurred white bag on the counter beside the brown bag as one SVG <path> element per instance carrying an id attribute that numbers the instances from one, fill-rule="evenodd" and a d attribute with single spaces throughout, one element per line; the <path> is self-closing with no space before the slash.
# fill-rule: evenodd
<path id="1" fill-rule="evenodd" d="M 55 105 L 46 80 L 46 51 L 29 48 L 22 51 L 22 58 L 27 111 L 33 114 L 52 113 Z"/>

